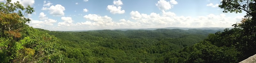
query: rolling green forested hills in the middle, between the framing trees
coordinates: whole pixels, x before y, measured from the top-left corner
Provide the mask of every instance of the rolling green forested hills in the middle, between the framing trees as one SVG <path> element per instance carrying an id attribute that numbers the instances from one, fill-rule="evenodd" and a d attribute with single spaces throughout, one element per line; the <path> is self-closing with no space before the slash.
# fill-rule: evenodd
<path id="1" fill-rule="evenodd" d="M 202 41 L 216 30 L 101 30 L 88 32 L 58 32 L 38 29 L 59 39 L 68 46 L 65 62 L 109 63 L 163 63 L 181 58 L 179 51 L 185 46 Z"/>

